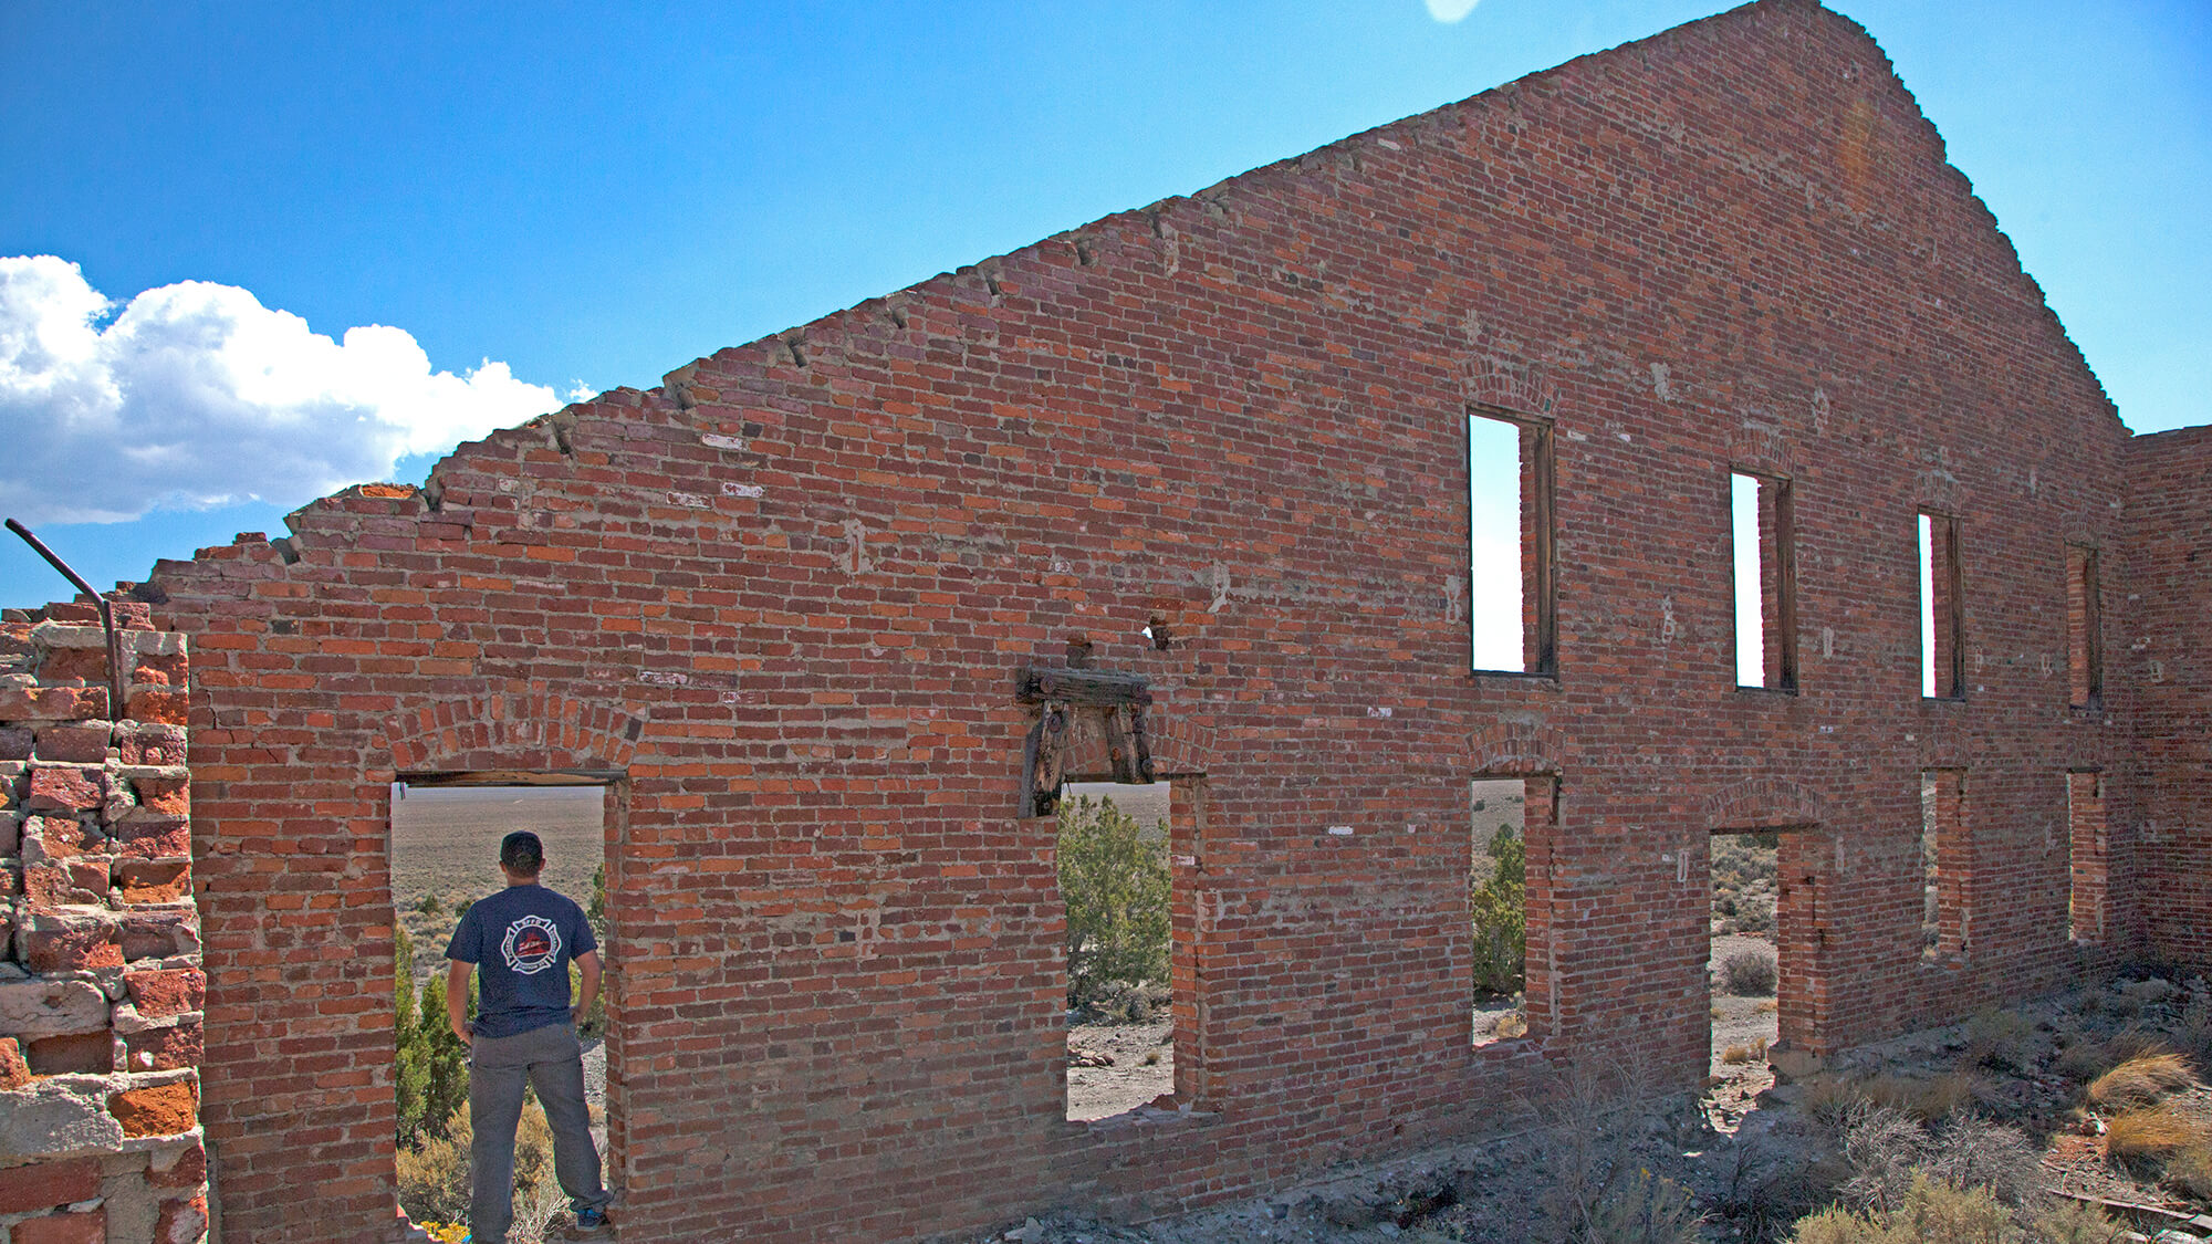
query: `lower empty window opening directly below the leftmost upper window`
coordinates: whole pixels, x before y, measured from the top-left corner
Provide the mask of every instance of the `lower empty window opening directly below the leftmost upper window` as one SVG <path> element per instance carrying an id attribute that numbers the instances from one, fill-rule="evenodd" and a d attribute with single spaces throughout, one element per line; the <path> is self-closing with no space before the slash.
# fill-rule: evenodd
<path id="1" fill-rule="evenodd" d="M 1469 998 L 1475 1045 L 1540 1034 L 1551 1018 L 1546 947 L 1555 795 L 1551 777 L 1469 784 Z"/>

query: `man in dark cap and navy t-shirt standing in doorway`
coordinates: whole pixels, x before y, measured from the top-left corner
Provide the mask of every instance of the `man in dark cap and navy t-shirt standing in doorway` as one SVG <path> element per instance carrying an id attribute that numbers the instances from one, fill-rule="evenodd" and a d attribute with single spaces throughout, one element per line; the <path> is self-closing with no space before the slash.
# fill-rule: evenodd
<path id="1" fill-rule="evenodd" d="M 538 883 L 546 852 L 538 834 L 500 841 L 507 888 L 480 899 L 445 947 L 445 1014 L 469 1047 L 469 1240 L 507 1244 L 515 1220 L 515 1124 L 522 1085 L 538 1089 L 553 1127 L 553 1175 L 568 1193 L 575 1226 L 597 1235 L 613 1200 L 599 1184 L 599 1151 L 584 1105 L 584 1047 L 575 1020 L 599 996 L 599 943 L 584 910 Z M 582 998 L 568 1005 L 568 963 Z M 478 981 L 469 1023 L 469 970 Z"/>

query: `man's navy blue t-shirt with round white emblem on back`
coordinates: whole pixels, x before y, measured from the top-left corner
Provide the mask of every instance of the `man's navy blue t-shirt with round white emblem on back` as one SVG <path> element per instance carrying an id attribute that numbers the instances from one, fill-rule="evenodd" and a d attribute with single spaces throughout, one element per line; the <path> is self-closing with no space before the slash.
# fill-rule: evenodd
<path id="1" fill-rule="evenodd" d="M 498 1038 L 568 1023 L 568 961 L 588 950 L 584 908 L 531 883 L 478 899 L 445 956 L 476 965 L 476 1034 Z"/>

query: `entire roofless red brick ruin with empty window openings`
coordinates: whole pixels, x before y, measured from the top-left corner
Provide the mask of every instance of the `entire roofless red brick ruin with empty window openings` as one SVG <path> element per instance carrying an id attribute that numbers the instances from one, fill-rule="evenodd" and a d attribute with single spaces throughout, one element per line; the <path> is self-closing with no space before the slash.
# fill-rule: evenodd
<path id="1" fill-rule="evenodd" d="M 1520 671 L 1469 668 L 1469 416 L 1524 447 Z M 9 622 L 0 1136 L 84 1136 L 0 1213 L 139 1240 L 204 1136 L 221 1240 L 398 1237 L 396 777 L 611 788 L 628 1244 L 1141 1220 L 1568 1058 L 1694 1089 L 1717 832 L 1783 830 L 1783 1065 L 2212 967 L 2208 531 L 2212 432 L 2130 436 L 1880 49 L 1759 0 L 161 562 L 122 715 L 88 607 Z M 1172 784 L 1175 1093 L 1068 1122 L 1031 795 L 1115 775 Z M 1535 779 L 1531 1032 L 1473 1045 L 1482 777 Z"/>

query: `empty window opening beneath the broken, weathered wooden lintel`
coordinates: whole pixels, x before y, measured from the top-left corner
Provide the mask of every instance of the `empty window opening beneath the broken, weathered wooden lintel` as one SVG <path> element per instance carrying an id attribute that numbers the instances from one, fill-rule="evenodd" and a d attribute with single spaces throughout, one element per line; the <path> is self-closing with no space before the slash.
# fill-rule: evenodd
<path id="1" fill-rule="evenodd" d="M 1071 781 L 1060 795 L 1066 908 L 1066 1118 L 1095 1120 L 1172 1096 L 1179 992 L 1172 788 Z M 1188 852 L 1188 843 L 1183 848 Z M 1188 934 L 1186 934 L 1188 936 Z"/>

